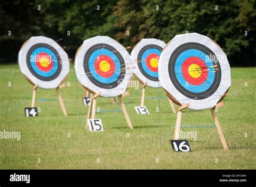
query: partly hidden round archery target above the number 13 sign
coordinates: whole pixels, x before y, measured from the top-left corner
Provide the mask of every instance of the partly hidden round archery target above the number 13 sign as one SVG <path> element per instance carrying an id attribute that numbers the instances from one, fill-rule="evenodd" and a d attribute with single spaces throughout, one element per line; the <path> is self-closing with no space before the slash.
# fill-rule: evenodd
<path id="1" fill-rule="evenodd" d="M 165 47 L 164 41 L 158 39 L 142 39 L 131 52 L 134 61 L 134 74 L 147 82 L 147 86 L 158 88 L 158 61 L 161 51 Z"/>

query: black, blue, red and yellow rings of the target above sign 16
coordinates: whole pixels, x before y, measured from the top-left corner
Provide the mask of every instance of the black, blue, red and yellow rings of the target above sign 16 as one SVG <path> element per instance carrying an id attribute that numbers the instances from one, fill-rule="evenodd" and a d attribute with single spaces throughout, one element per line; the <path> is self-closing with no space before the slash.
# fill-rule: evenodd
<path id="1" fill-rule="evenodd" d="M 168 71 L 176 89 L 191 99 L 205 99 L 213 95 L 221 80 L 221 67 L 215 54 L 199 43 L 185 43 L 177 47 L 169 60 Z M 218 71 L 215 68 L 218 67 Z M 209 68 L 208 68 L 209 67 Z"/>

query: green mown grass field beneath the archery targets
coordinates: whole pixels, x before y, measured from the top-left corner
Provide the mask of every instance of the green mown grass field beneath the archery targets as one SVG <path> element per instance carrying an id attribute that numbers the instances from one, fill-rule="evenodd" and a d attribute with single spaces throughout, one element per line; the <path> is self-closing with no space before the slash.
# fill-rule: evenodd
<path id="1" fill-rule="evenodd" d="M 36 107 L 41 108 L 39 117 L 25 117 L 32 86 L 17 65 L 2 65 L 0 130 L 21 131 L 21 141 L 0 139 L 0 169 L 255 169 L 255 71 L 232 68 L 230 92 L 224 99 L 225 106 L 217 112 L 230 150 L 224 151 L 216 128 L 183 128 L 197 131 L 197 140 L 189 140 L 192 152 L 175 153 L 170 140 L 176 115 L 171 113 L 167 99 L 150 99 L 159 95 L 163 98 L 161 88 L 146 88 L 145 105 L 150 115 L 138 115 L 134 110 L 140 103 L 141 85 L 138 90 L 129 89 L 130 96 L 124 101 L 133 130 L 128 128 L 119 104 L 112 105 L 109 98 L 97 99 L 100 109 L 117 112 L 96 113 L 104 131 L 92 133 L 85 129 L 87 107 L 83 106 L 83 87 L 73 66 L 66 80 L 70 87 L 60 89 L 69 116 L 64 117 L 58 101 L 54 101 L 55 90 L 38 89 L 37 99 L 53 101 L 36 101 Z M 9 81 L 12 87 L 8 87 Z M 160 113 L 156 112 L 159 104 Z M 214 122 L 210 110 L 185 110 L 181 124 Z"/>

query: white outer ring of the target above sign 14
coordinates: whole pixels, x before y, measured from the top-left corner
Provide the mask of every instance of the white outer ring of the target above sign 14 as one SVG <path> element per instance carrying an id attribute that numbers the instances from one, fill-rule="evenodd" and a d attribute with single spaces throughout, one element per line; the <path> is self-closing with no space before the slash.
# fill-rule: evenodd
<path id="1" fill-rule="evenodd" d="M 60 70 L 60 73 L 58 77 L 51 81 L 44 81 L 40 80 L 37 77 L 35 77 L 29 70 L 27 64 L 26 64 L 26 56 L 30 50 L 30 48 L 39 43 L 44 43 L 52 46 L 59 54 L 60 60 L 62 62 L 62 70 Z M 18 62 L 19 62 L 19 68 L 21 69 L 21 72 L 26 75 L 34 84 L 38 84 L 38 87 L 45 88 L 45 89 L 52 89 L 57 88 L 59 84 L 63 81 L 63 79 L 68 75 L 69 73 L 69 57 L 68 54 L 62 49 L 62 47 L 56 43 L 51 38 L 47 38 L 44 36 L 36 36 L 31 37 L 29 40 L 27 40 L 21 50 L 19 50 L 18 54 Z"/>

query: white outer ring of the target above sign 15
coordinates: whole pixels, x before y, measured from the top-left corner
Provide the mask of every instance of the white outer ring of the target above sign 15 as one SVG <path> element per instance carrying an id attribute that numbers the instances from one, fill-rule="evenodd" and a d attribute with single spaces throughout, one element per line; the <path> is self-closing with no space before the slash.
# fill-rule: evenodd
<path id="1" fill-rule="evenodd" d="M 89 50 L 91 46 L 96 44 L 111 45 L 112 47 L 114 47 L 114 49 L 116 49 L 121 54 L 121 56 L 124 59 L 124 63 L 126 67 L 125 76 L 122 82 L 118 84 L 117 87 L 110 88 L 110 89 L 100 88 L 90 81 L 90 79 L 87 77 L 84 71 L 84 56 L 87 50 Z M 82 46 L 80 46 L 76 54 L 75 71 L 76 71 L 77 79 L 86 88 L 89 88 L 91 91 L 95 93 L 100 92 L 101 93 L 100 96 L 103 96 L 103 97 L 115 97 L 118 95 L 122 95 L 128 87 L 128 84 L 133 74 L 132 59 L 130 54 L 124 48 L 124 46 L 118 43 L 116 40 L 107 36 L 96 36 L 96 37 L 84 40 Z"/>

